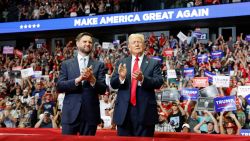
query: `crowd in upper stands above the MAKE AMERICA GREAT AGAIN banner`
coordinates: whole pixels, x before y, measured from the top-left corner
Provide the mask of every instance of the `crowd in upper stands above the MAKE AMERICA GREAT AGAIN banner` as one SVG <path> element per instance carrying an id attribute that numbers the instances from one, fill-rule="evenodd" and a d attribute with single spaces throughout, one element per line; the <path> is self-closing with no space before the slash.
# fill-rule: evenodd
<path id="1" fill-rule="evenodd" d="M 93 16 L 247 1 L 249 0 L 175 0 L 155 1 L 150 4 L 150 1 L 142 0 L 2 0 L 0 1 L 0 21 Z"/>

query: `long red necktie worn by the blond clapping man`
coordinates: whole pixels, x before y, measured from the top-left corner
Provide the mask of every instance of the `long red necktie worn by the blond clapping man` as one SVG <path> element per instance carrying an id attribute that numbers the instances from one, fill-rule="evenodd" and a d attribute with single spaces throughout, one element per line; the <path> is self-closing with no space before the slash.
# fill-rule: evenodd
<path id="1" fill-rule="evenodd" d="M 136 56 L 134 67 L 133 67 L 133 73 L 139 70 L 139 58 Z M 131 78 L 131 96 L 130 96 L 130 103 L 135 106 L 136 105 L 136 87 L 137 87 L 137 80 L 135 78 Z"/>

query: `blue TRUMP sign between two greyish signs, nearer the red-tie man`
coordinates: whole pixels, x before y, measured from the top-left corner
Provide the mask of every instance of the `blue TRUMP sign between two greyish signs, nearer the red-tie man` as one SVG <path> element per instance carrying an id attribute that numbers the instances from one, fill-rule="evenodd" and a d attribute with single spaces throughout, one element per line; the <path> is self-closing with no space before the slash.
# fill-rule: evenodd
<path id="1" fill-rule="evenodd" d="M 181 90 L 183 100 L 197 100 L 199 97 L 199 90 L 197 88 L 183 88 Z"/>

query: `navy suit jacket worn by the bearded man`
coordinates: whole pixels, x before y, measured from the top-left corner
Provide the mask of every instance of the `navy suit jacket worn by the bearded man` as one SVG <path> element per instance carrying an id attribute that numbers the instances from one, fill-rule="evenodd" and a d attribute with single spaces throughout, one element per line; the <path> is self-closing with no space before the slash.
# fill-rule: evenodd
<path id="1" fill-rule="evenodd" d="M 84 112 L 84 119 L 89 125 L 97 125 L 100 123 L 98 94 L 104 94 L 106 91 L 104 64 L 89 59 L 88 67 L 91 65 L 96 78 L 94 87 L 92 87 L 88 81 L 84 81 L 84 83 L 78 86 L 75 85 L 75 78 L 80 76 L 77 57 L 62 63 L 57 83 L 58 90 L 65 92 L 62 123 L 73 123 L 79 115 L 79 112 Z"/>

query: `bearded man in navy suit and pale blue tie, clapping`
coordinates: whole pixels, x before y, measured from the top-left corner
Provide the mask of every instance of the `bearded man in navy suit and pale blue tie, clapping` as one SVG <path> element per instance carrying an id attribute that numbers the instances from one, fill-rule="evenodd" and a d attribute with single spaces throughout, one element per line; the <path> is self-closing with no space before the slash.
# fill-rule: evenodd
<path id="1" fill-rule="evenodd" d="M 62 134 L 95 135 L 100 123 L 98 94 L 106 91 L 104 64 L 90 58 L 92 35 L 76 37 L 77 57 L 62 63 L 57 88 L 65 92 Z"/>

